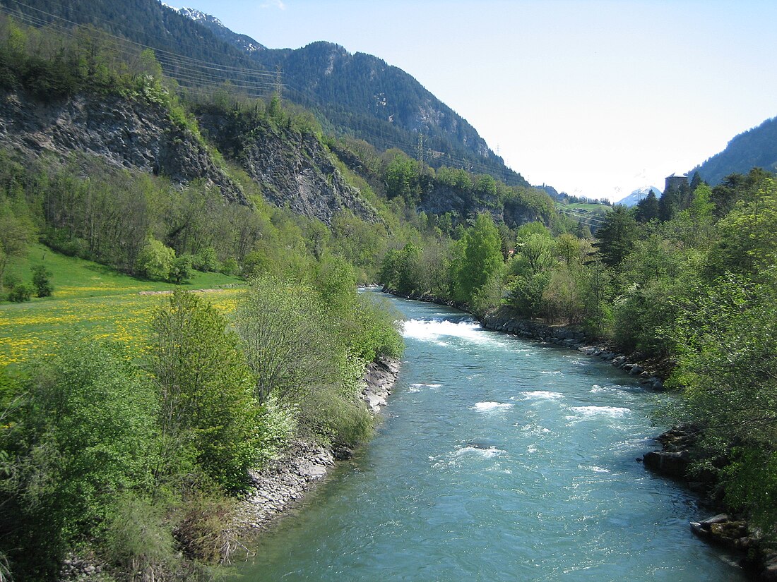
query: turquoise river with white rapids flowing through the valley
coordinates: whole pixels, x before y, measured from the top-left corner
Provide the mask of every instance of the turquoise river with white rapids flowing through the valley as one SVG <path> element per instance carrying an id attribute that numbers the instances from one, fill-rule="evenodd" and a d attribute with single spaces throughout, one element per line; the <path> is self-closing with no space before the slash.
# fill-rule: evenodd
<path id="1" fill-rule="evenodd" d="M 408 317 L 386 419 L 241 580 L 746 580 L 706 517 L 636 458 L 656 393 L 611 365 L 392 298 Z"/>

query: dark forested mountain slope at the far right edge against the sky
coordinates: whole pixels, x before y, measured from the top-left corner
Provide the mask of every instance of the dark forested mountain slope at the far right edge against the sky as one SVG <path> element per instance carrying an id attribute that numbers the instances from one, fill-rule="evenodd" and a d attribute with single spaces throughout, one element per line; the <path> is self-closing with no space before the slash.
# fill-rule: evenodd
<path id="1" fill-rule="evenodd" d="M 720 184 L 727 175 L 747 174 L 751 168 L 777 171 L 777 117 L 734 137 L 726 149 L 688 172 L 699 172 L 710 185 Z"/>

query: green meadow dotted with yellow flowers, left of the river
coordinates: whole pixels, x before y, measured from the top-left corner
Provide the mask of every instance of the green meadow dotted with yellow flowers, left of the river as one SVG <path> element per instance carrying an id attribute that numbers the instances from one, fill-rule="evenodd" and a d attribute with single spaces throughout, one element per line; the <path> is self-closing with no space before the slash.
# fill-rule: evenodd
<path id="1" fill-rule="evenodd" d="M 44 357 L 65 334 L 78 331 L 92 338 L 120 341 L 136 355 L 145 350 L 152 314 L 174 289 L 165 282 L 145 281 L 111 268 L 59 255 L 42 245 L 30 249 L 25 260 L 9 270 L 29 282 L 30 269 L 45 265 L 54 293 L 29 303 L 0 303 L 0 366 Z M 245 283 L 220 273 L 196 272 L 183 289 L 203 291 L 225 312 L 234 310 Z"/>

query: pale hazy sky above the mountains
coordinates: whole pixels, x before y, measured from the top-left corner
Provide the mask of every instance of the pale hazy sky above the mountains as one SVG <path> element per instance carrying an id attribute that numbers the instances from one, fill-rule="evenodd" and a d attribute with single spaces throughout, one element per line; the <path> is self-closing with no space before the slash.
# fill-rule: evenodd
<path id="1" fill-rule="evenodd" d="M 167 0 L 412 74 L 533 184 L 620 199 L 777 116 L 777 2 Z M 190 2 L 190 4 L 189 4 Z"/>

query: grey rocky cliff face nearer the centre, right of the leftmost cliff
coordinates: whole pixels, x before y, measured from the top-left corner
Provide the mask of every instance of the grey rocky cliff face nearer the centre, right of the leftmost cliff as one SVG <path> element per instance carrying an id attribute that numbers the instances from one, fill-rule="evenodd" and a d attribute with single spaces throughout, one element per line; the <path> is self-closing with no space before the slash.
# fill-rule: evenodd
<path id="1" fill-rule="evenodd" d="M 271 203 L 327 225 L 343 210 L 371 223 L 378 220 L 375 209 L 345 181 L 312 134 L 260 124 L 235 139 L 239 130 L 210 114 L 200 116 L 200 126 L 220 151 L 238 161 Z"/>

